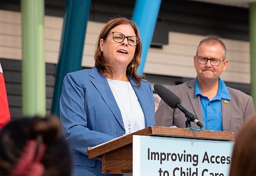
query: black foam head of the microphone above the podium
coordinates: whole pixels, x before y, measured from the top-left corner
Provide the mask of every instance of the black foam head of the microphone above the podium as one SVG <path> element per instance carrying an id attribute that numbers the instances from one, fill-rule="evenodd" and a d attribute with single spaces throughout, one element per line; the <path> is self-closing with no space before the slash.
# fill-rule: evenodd
<path id="1" fill-rule="evenodd" d="M 154 84 L 154 90 L 168 106 L 176 108 L 176 104 L 180 103 L 180 98 L 165 86 L 161 84 Z"/>

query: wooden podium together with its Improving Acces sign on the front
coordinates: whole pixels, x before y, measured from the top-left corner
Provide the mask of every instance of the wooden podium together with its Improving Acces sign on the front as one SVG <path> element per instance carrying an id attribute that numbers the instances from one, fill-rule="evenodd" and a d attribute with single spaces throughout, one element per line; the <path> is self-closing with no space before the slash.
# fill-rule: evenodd
<path id="1" fill-rule="evenodd" d="M 133 136 L 135 135 L 141 137 L 135 137 L 135 140 L 137 140 L 133 145 Z M 143 136 L 154 137 L 142 138 Z M 180 140 L 178 138 L 180 138 Z M 198 175 L 202 175 L 203 173 L 203 176 L 223 176 L 224 174 L 226 175 L 228 171 L 224 172 L 222 170 L 216 171 L 212 169 L 220 169 L 223 167 L 228 170 L 230 164 L 227 163 L 229 163 L 232 143 L 225 141 L 232 141 L 233 139 L 234 134 L 230 131 L 202 130 L 197 132 L 186 128 L 149 126 L 95 147 L 88 147 L 87 150 L 90 159 L 102 160 L 102 173 L 133 173 L 134 167 L 136 169 L 136 175 L 195 176 L 196 173 Z M 208 145 L 206 143 L 208 143 Z M 133 152 L 133 146 L 136 152 Z M 153 155 L 151 157 L 153 159 L 150 158 L 147 160 L 148 152 L 150 155 Z M 207 155 L 205 155 L 206 158 L 203 160 L 204 162 L 202 162 L 202 157 L 204 157 L 205 152 Z M 154 157 L 158 157 L 157 155 L 161 158 L 154 159 Z M 194 158 L 190 159 L 190 155 Z M 196 160 L 197 155 L 198 160 Z M 182 156 L 184 156 L 184 158 Z M 177 159 L 175 159 L 175 157 L 177 157 Z M 193 159 L 195 160 L 195 164 Z M 133 164 L 133 162 L 135 163 Z M 140 166 L 143 167 L 143 172 Z M 191 171 L 189 169 L 191 169 Z M 197 172 L 193 174 L 195 171 L 192 171 L 192 169 L 196 169 Z M 219 174 L 211 174 L 214 173 L 214 171 Z M 191 175 L 189 175 L 190 173 Z"/>

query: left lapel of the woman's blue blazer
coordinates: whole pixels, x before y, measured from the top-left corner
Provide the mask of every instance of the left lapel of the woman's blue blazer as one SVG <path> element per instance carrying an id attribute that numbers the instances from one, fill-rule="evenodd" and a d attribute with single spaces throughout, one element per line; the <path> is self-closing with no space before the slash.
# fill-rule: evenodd
<path id="1" fill-rule="evenodd" d="M 109 83 L 106 80 L 105 76 L 102 76 L 101 74 L 99 74 L 97 68 L 92 69 L 90 76 L 92 77 L 91 82 L 99 91 L 100 95 L 102 96 L 102 99 L 109 106 L 115 118 L 124 129 L 124 124 L 123 124 L 123 119 L 122 119 L 120 109 L 116 103 L 115 97 L 110 89 Z"/>

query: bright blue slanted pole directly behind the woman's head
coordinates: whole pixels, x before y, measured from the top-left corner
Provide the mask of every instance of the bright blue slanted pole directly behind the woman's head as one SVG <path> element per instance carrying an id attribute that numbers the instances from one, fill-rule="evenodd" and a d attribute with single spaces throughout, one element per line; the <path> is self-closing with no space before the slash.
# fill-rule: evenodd
<path id="1" fill-rule="evenodd" d="M 140 75 L 143 75 L 146 56 L 148 49 L 151 46 L 160 5 L 161 0 L 137 0 L 135 4 L 132 20 L 139 28 L 142 42 L 141 61 L 138 68 L 138 73 Z"/>

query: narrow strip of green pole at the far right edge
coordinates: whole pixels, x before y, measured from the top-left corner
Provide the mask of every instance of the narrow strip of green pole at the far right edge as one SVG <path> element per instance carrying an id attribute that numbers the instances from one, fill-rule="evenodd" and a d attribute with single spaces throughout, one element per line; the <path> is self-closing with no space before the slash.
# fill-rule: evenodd
<path id="1" fill-rule="evenodd" d="M 249 4 L 251 96 L 256 109 L 256 3 Z"/>

